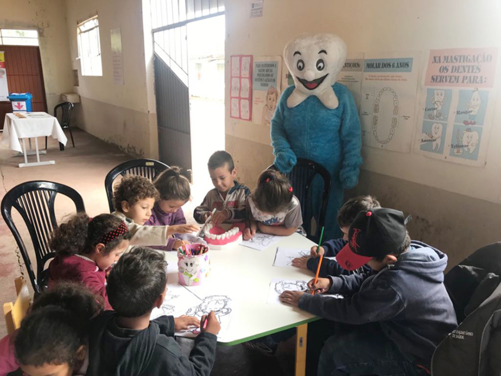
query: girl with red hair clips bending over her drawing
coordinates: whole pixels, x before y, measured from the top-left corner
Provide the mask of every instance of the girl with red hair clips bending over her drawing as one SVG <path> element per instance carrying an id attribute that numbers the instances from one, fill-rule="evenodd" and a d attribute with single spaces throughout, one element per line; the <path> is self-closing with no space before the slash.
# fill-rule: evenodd
<path id="1" fill-rule="evenodd" d="M 247 197 L 245 209 L 249 217 L 243 239 L 254 237 L 259 229 L 265 234 L 292 235 L 303 224 L 301 205 L 292 186 L 280 172 L 264 171 L 258 187 Z"/>

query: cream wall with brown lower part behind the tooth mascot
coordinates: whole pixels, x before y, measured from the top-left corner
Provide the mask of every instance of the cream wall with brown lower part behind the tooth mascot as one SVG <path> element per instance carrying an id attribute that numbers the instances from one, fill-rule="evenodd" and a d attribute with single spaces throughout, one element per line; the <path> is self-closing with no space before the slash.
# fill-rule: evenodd
<path id="1" fill-rule="evenodd" d="M 250 1 L 227 2 L 225 6 L 227 64 L 236 54 L 282 55 L 285 44 L 303 32 L 338 34 L 349 53 L 461 47 L 501 50 L 501 5 L 493 0 L 266 0 L 264 17 L 256 19 L 249 17 Z M 498 88 L 500 67 L 498 59 Z M 245 160 L 245 165 L 239 166 L 240 177 L 254 186 L 259 172 L 273 161 L 270 130 L 229 118 L 228 65 L 226 68 L 226 148 L 236 160 Z M 494 224 L 483 221 L 487 217 L 497 223 L 501 220 L 501 128 L 496 126 L 501 122 L 500 98 L 497 96 L 485 167 L 363 148 L 361 182 L 348 195 L 374 193 L 384 197 L 387 206 L 398 205 L 413 212 L 421 222 L 416 221 L 411 229 L 424 240 L 450 248 L 455 262 L 472 251 L 471 247 L 495 240 L 497 231 L 491 231 Z M 484 205 L 482 200 L 493 205 Z M 433 211 L 429 205 L 435 205 Z M 444 236 L 442 230 L 447 232 Z M 462 244 L 466 244 L 465 249 L 455 250 Z"/>

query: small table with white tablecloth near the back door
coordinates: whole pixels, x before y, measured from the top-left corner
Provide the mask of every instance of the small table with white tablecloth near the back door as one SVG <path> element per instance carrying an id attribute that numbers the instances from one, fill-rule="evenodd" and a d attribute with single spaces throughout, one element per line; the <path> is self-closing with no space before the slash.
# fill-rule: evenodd
<path id="1" fill-rule="evenodd" d="M 40 154 L 45 154 L 46 151 L 40 151 L 38 148 L 38 137 L 52 136 L 60 143 L 66 145 L 66 138 L 63 129 L 59 125 L 58 120 L 45 112 L 23 112 L 18 113 L 25 116 L 19 118 L 15 114 L 6 114 L 4 122 L 4 135 L 2 144 L 9 144 L 9 148 L 20 153 L 15 156 L 24 155 L 25 163 L 20 163 L 19 167 L 53 165 L 55 161 L 40 161 Z M 35 151 L 32 151 L 31 139 L 35 139 Z M 30 144 L 30 151 L 26 150 L 26 139 Z M 21 147 L 21 142 L 23 146 Z M 37 162 L 28 163 L 28 155 L 36 155 Z"/>

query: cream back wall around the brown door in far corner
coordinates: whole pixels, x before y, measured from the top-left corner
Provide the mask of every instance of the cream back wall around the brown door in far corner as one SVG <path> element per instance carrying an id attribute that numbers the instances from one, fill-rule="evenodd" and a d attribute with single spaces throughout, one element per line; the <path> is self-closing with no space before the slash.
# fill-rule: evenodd
<path id="1" fill-rule="evenodd" d="M 73 85 L 65 13 L 65 0 L 2 0 L 0 4 L 0 28 L 38 30 L 49 113 Z"/>

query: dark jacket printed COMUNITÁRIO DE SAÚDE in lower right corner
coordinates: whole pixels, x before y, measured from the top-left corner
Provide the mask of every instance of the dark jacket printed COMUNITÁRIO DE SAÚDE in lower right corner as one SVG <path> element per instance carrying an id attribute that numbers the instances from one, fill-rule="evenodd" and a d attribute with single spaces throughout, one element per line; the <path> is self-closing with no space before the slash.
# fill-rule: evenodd
<path id="1" fill-rule="evenodd" d="M 458 326 L 437 346 L 432 376 L 501 374 L 501 242 L 475 251 L 444 279 Z"/>

